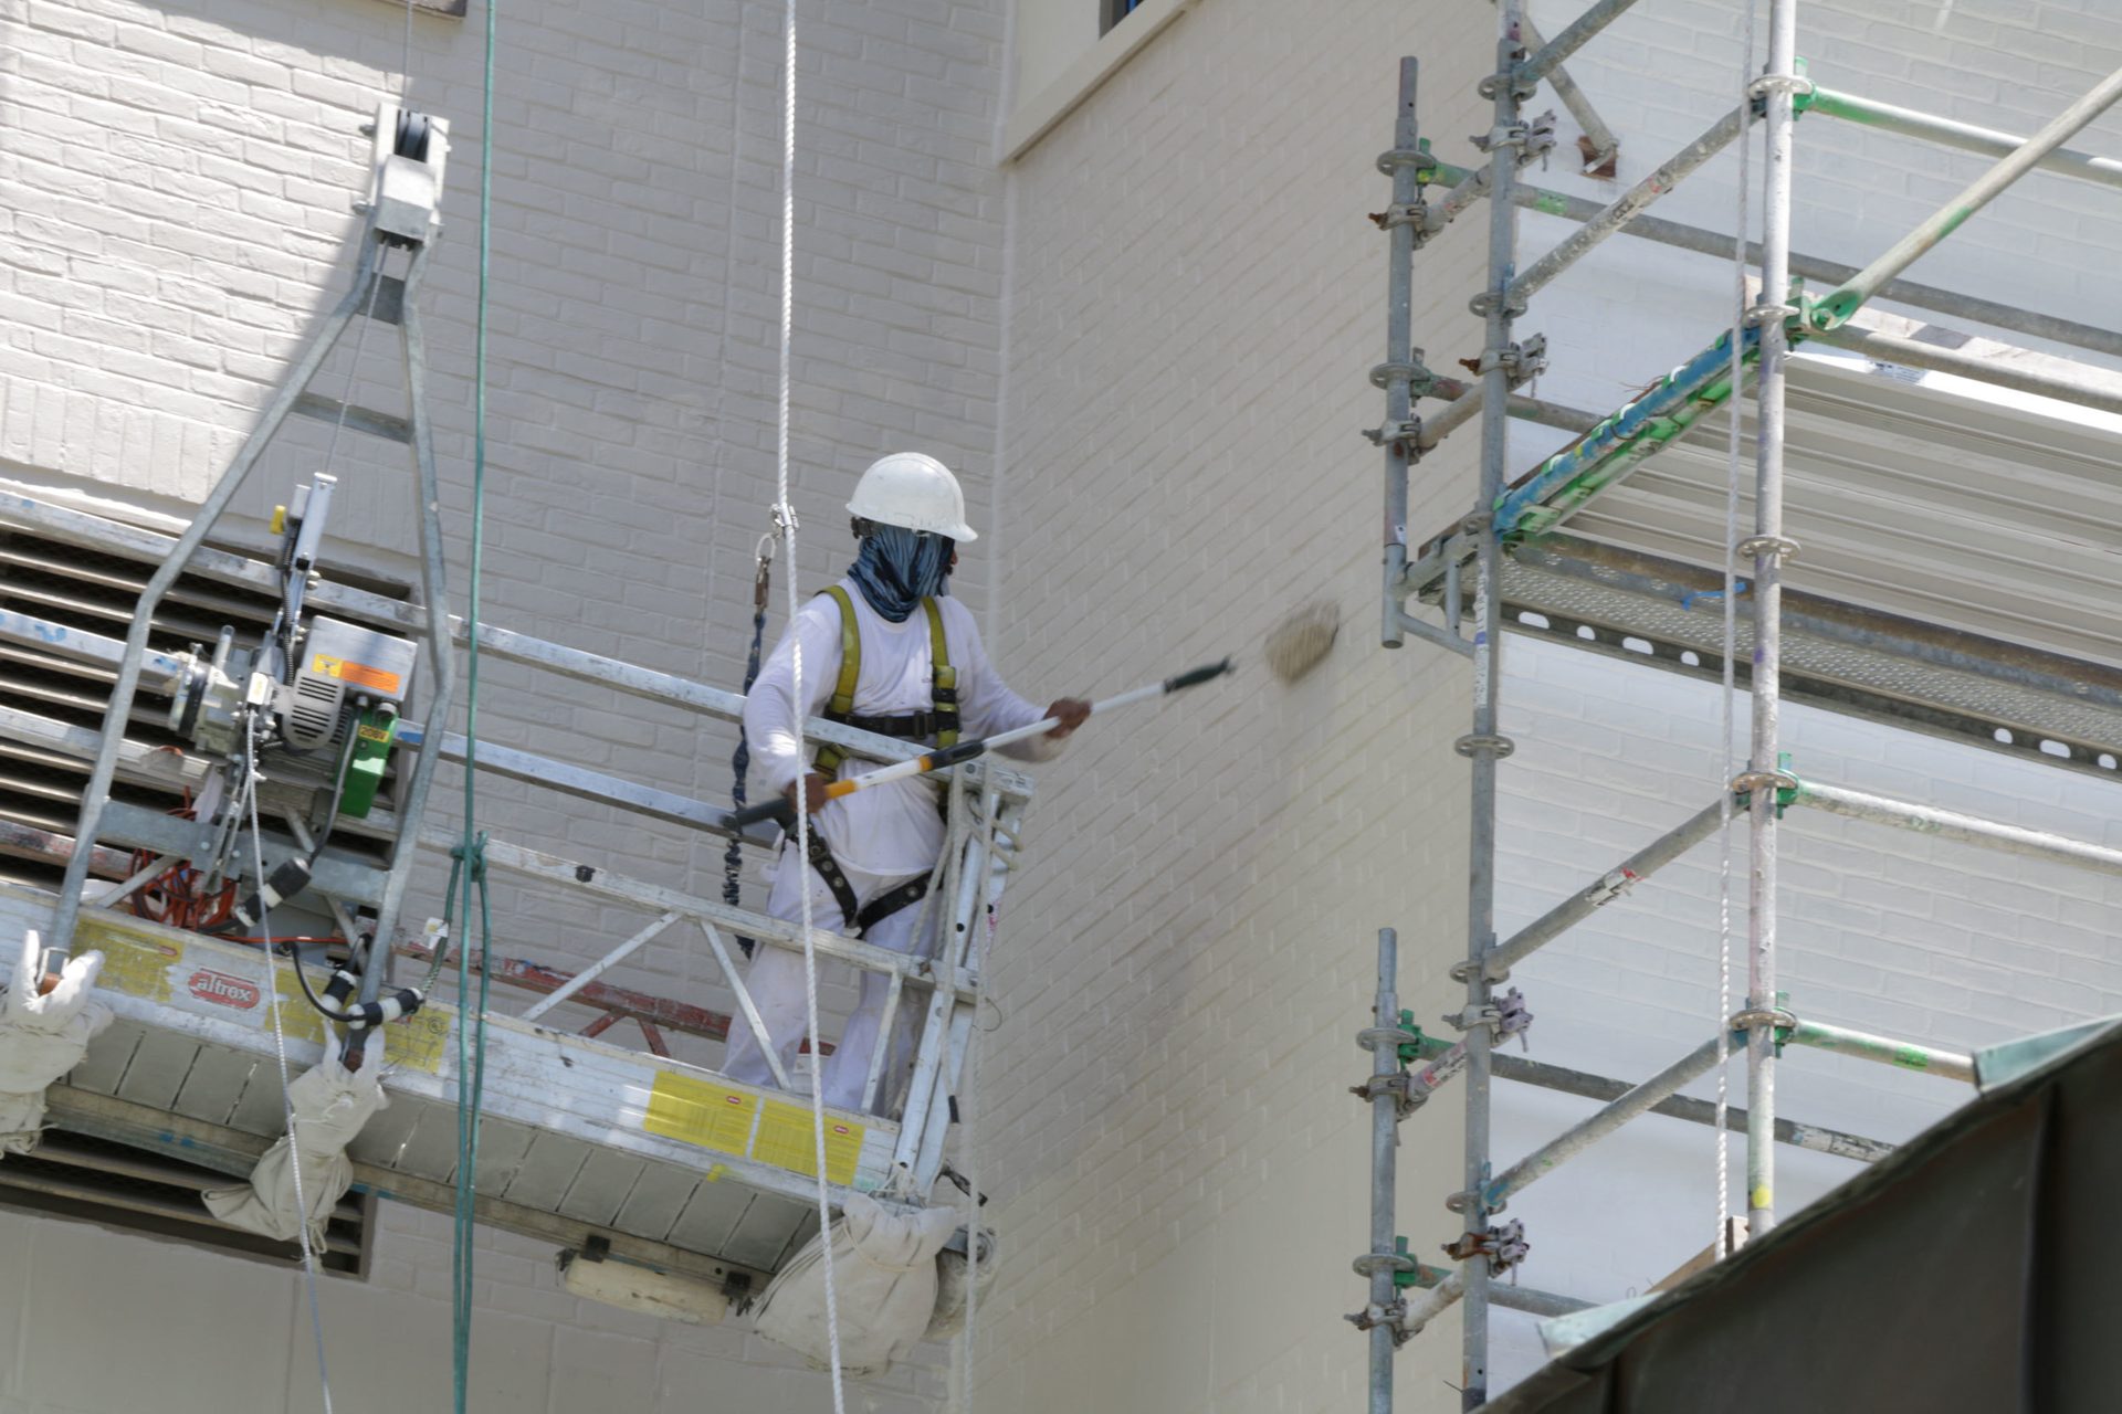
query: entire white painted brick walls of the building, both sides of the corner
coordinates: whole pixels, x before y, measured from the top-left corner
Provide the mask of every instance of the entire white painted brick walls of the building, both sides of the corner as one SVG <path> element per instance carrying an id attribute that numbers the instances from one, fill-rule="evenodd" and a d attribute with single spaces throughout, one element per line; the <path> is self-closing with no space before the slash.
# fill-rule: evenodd
<path id="1" fill-rule="evenodd" d="M 1806 6 L 1804 51 L 1823 83 L 2031 131 L 2114 66 L 2099 8 L 1956 0 L 1937 32 L 1931 2 L 1821 0 Z M 1536 17 L 1558 30 L 1568 6 Z M 344 282 L 344 201 L 365 180 L 354 127 L 399 68 L 399 23 L 388 6 L 352 0 L 0 8 L 0 123 L 28 138 L 0 153 L 0 473 L 95 483 L 163 511 L 204 494 Z M 772 469 L 777 23 L 770 6 L 702 15 L 645 2 L 503 17 L 494 621 L 736 678 Z M 974 604 L 999 591 L 997 649 L 1027 691 L 1110 689 L 1246 655 L 1311 598 L 1341 602 L 1350 625 L 1297 687 L 1252 666 L 1125 736 L 1086 733 L 1048 774 L 1031 865 L 1006 905 L 995 990 L 1008 1024 L 978 1104 L 982 1187 L 1010 1253 L 982 1316 L 982 1408 L 1352 1408 L 1360 1344 L 1339 1312 L 1358 1300 L 1347 1259 L 1364 1242 L 1367 1124 L 1341 1090 L 1362 1071 L 1352 1032 L 1379 924 L 1403 933 L 1405 1003 L 1432 1015 L 1449 1001 L 1443 969 L 1464 948 L 1464 772 L 1449 740 L 1466 717 L 1456 659 L 1371 647 L 1377 456 L 1354 430 L 1377 420 L 1362 375 L 1379 356 L 1384 250 L 1362 212 L 1386 191 L 1371 157 L 1390 129 L 1392 55 L 1424 57 L 1424 131 L 1464 157 L 1464 134 L 1485 127 L 1471 83 L 1490 61 L 1490 11 L 1197 6 L 1008 178 L 1010 263 L 1004 178 L 989 170 L 1002 32 L 999 2 L 893 0 L 836 6 L 806 36 L 796 394 L 806 581 L 838 564 L 836 507 L 859 466 L 917 439 L 966 471 L 976 524 L 1006 505 L 961 587 Z M 1572 66 L 1628 140 L 1623 180 L 1729 106 L 1732 34 L 1727 6 L 1657 0 Z M 1965 66 L 1993 83 L 1950 76 Z M 412 70 L 414 102 L 448 112 L 458 138 L 429 322 L 460 532 L 475 21 L 416 17 Z M 2118 131 L 2107 121 L 2082 146 L 2111 151 Z M 1823 119 L 1802 136 L 1797 244 L 1829 259 L 1861 261 L 1980 165 Z M 1727 225 L 1734 170 L 1721 159 L 1662 214 Z M 1560 159 L 1541 180 L 1611 191 Z M 2097 263 L 2067 263 L 2105 244 L 2107 208 L 2094 199 L 2031 178 L 1912 273 L 2111 324 L 2111 282 Z M 1417 341 L 1439 365 L 1479 341 L 1464 314 L 1479 225 L 1422 254 Z M 1528 257 L 1560 233 L 1528 216 Z M 1710 337 L 1727 282 L 1715 261 L 1611 242 L 1526 322 L 1553 341 L 1541 392 L 1611 407 Z M 386 343 L 369 343 L 361 396 L 395 407 Z M 997 413 L 1006 485 L 989 475 Z M 327 441 L 323 428 L 293 430 L 246 511 L 314 469 Z M 340 445 L 346 479 L 373 477 L 386 494 L 340 522 L 337 549 L 405 575 L 410 528 L 388 494 L 403 471 L 354 443 Z M 1517 428 L 1513 464 L 1545 445 Z M 1420 469 L 1417 534 L 1458 511 L 1471 464 L 1460 441 Z M 497 740 L 702 795 L 724 789 L 726 738 L 688 717 L 486 672 Z M 1513 644 L 1507 693 L 1521 746 L 1504 772 L 1502 929 L 1708 799 L 1715 778 L 1712 708 L 1693 685 Z M 2103 782 L 1802 710 L 1791 738 L 1799 767 L 1823 778 L 2107 831 Z M 713 886 L 715 852 L 679 831 L 622 829 L 528 786 L 494 784 L 486 799 L 488 816 L 530 844 L 624 854 L 609 863 Z M 2111 886 L 1997 869 L 1912 837 L 1859 854 L 1869 835 L 1812 816 L 1789 831 L 1787 975 L 1810 1013 L 1976 1045 L 2114 1007 Z M 1702 1035 L 1715 956 L 1704 859 L 1521 969 L 1521 984 L 1538 986 L 1536 1056 L 1634 1075 Z M 547 960 L 588 956 L 634 922 L 530 890 L 503 899 L 505 945 Z M 645 950 L 620 982 L 713 998 L 677 945 Z M 1789 1113 L 1884 1136 L 1950 1100 L 1829 1058 L 1787 1075 Z M 1498 1155 L 1570 1113 L 1504 1090 Z M 1403 1230 L 1426 1253 L 1449 1236 L 1437 1200 L 1456 1187 L 1456 1134 L 1451 1098 L 1405 1130 Z M 1526 1278 L 1617 1295 L 1700 1247 L 1704 1138 L 1653 1121 L 1528 1191 Z M 1785 1204 L 1838 1177 L 1829 1162 L 1785 1155 Z M 1619 1213 L 1608 1198 L 1623 1191 Z M 1594 1204 L 1619 1215 L 1596 1230 L 1566 1221 Z M 1651 1221 L 1683 1204 L 1700 1223 Z M 0 1348 L 28 1348 L 45 1319 L 32 1306 L 51 1287 L 79 1300 L 110 1287 L 95 1272 L 127 1263 L 129 1289 L 155 1289 L 132 1276 L 146 1251 L 170 1263 L 172 1280 L 157 1285 L 225 1289 L 231 1308 L 280 1323 L 253 1344 L 219 1323 L 178 1327 L 172 1359 L 284 1376 L 308 1397 L 286 1276 L 0 1221 L 11 1251 L 85 1274 L 38 1283 L 32 1304 L 32 1278 L 11 1266 L 0 1331 L 15 1340 Z M 376 1280 L 327 1287 L 348 1344 L 380 1331 L 395 1353 L 418 1350 L 424 1389 L 446 1374 L 441 1236 L 431 1219 L 395 1215 Z M 511 1380 L 488 1397 L 573 1408 L 586 1376 L 598 1393 L 662 1408 L 705 1391 L 821 1397 L 815 1376 L 728 1331 L 567 1302 L 543 1257 L 511 1240 L 486 1255 L 482 1340 Z M 253 1369 L 259 1346 L 276 1355 Z M 1504 1327 L 1498 1369 L 1528 1359 L 1524 1327 Z M 342 1378 L 369 1378 L 350 1361 L 335 1357 Z M 0 1408 L 74 1408 L 28 1382 L 40 1378 L 15 1361 Z M 1443 1321 L 1409 1346 L 1403 1408 L 1454 1408 L 1456 1378 Z M 887 1414 L 923 1408 L 938 1380 L 915 1369 L 862 1399 Z M 129 1403 L 134 1391 L 87 1408 Z"/>

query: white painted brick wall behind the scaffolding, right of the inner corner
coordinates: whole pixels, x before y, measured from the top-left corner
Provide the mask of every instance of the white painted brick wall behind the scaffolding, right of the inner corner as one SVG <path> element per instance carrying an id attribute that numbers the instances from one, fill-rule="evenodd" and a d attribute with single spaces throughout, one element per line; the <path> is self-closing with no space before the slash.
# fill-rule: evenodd
<path id="1" fill-rule="evenodd" d="M 1579 6 L 1536 4 L 1547 32 Z M 2033 131 L 2111 68 L 2094 4 L 1961 0 L 1808 4 L 1799 49 L 1827 85 Z M 987 1187 L 1012 1266 L 989 1304 L 980 1389 L 1010 1410 L 1360 1408 L 1367 1119 L 1343 1090 L 1371 996 L 1373 933 L 1403 937 L 1403 1005 L 1432 1022 L 1464 956 L 1464 666 L 1373 647 L 1384 244 L 1392 57 L 1424 59 L 1422 123 L 1466 161 L 1488 127 L 1488 6 L 1288 6 L 1214 0 L 1180 19 L 1016 167 L 1004 498 L 1004 644 L 1082 659 L 1097 685 L 1254 649 L 1307 598 L 1350 615 L 1299 687 L 1254 672 L 1131 738 L 1086 738 L 1050 772 L 1038 873 L 1010 899 L 995 988 L 1010 1024 L 982 1085 Z M 1736 13 L 1659 0 L 1572 72 L 1623 134 L 1634 180 L 1727 110 Z M 2069 36 L 2067 40 L 2063 36 Z M 1990 55 L 1997 55 L 1990 61 Z M 1976 64 L 1973 83 L 1944 66 Z M 1547 106 L 1543 98 L 1534 110 Z M 2103 121 L 2077 146 L 2114 151 Z M 1795 242 L 1863 263 L 1982 161 L 1806 119 Z M 1594 197 L 1615 187 L 1532 180 Z M 1736 155 L 1659 214 L 1732 225 Z M 1755 163 L 1759 176 L 1759 163 Z M 2090 195 L 2088 195 L 2090 193 Z M 2114 326 L 2103 261 L 2065 265 L 2107 193 L 2041 176 L 1914 267 L 1931 284 Z M 1757 204 L 1755 204 L 1757 210 Z M 1417 261 L 1415 341 L 1432 367 L 1475 354 L 1464 314 L 1477 210 Z M 1570 227 L 1526 216 L 1524 259 Z M 1538 392 L 1611 409 L 1708 343 L 1729 265 L 1615 240 L 1538 301 L 1553 371 Z M 1562 437 L 1513 428 L 1511 471 Z M 1415 473 L 1415 534 L 1471 488 L 1454 441 Z M 1254 653 L 1256 655 L 1256 653 Z M 1560 647 L 1511 642 L 1498 929 L 1715 799 L 1715 693 Z M 1797 765 L 1823 780 L 2107 837 L 2111 782 L 1863 723 L 1789 712 Z M 1787 831 L 1785 986 L 1804 1013 L 1946 1047 L 2114 1011 L 2105 937 L 2122 895 L 2101 880 L 1829 816 Z M 2048 890 L 2056 890 L 2050 895 Z M 1715 848 L 1674 865 L 1519 969 L 1532 1054 L 1640 1077 L 1715 1026 Z M 1950 1085 L 1797 1054 L 1785 1113 L 1901 1138 Z M 1700 1090 L 1700 1088 L 1698 1088 Z M 1585 1104 L 1498 1090 L 1496 1162 Z M 1848 1166 L 1780 1155 L 1791 1210 Z M 1401 1230 L 1428 1259 L 1456 1234 L 1456 1096 L 1403 1130 Z M 1742 1155 L 1734 1151 L 1734 1166 Z M 1706 1130 L 1649 1121 L 1530 1189 L 1536 1287 L 1619 1297 L 1708 1242 Z M 1738 1172 L 1738 1168 L 1736 1168 Z M 1589 1221 L 1589 1215 L 1598 1215 Z M 1674 1217 L 1679 1215 L 1679 1217 Z M 1536 1359 L 1504 1316 L 1496 1384 Z M 1403 1353 L 1401 1406 L 1451 1410 L 1456 1321 Z"/>

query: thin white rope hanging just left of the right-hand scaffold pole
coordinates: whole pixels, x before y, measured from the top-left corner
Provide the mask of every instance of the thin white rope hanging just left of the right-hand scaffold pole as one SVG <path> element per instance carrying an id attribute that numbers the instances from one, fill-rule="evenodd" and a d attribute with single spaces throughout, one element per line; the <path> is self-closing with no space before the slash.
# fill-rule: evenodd
<path id="1" fill-rule="evenodd" d="M 1719 714 L 1719 763 L 1717 780 L 1721 810 L 1719 818 L 1719 850 L 1717 861 L 1717 1234 L 1710 1242 L 1710 1251 L 1717 1257 L 1725 1255 L 1727 1230 L 1732 1219 L 1732 1134 L 1725 1128 L 1725 1119 L 1732 1109 L 1732 778 L 1738 774 L 1738 763 L 1732 750 L 1732 733 L 1736 731 L 1734 721 L 1734 700 L 1738 695 L 1738 678 L 1732 659 L 1738 657 L 1738 485 L 1740 485 L 1740 435 L 1738 435 L 1738 413 L 1740 413 L 1740 375 L 1746 363 L 1740 354 L 1740 337 L 1746 333 L 1746 223 L 1751 220 L 1746 201 L 1746 180 L 1749 180 L 1749 155 L 1753 148 L 1753 98 L 1749 89 L 1753 87 L 1753 23 L 1755 23 L 1755 0 L 1746 0 L 1746 21 L 1740 38 L 1740 59 L 1738 59 L 1738 87 L 1740 87 L 1740 119 L 1738 119 L 1738 225 L 1732 237 L 1732 284 L 1734 284 L 1734 314 L 1732 314 L 1732 430 L 1727 437 L 1729 452 L 1729 473 L 1725 479 L 1725 585 L 1723 585 L 1723 695 Z M 1768 295 L 1763 295 L 1768 299 Z M 1755 786 L 1759 789 L 1759 786 Z"/>

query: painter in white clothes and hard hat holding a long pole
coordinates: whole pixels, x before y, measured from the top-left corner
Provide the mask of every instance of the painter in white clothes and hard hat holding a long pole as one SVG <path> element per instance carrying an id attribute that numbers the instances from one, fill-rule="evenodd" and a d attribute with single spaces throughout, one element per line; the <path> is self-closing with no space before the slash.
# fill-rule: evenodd
<path id="1" fill-rule="evenodd" d="M 866 765 L 834 746 L 821 746 L 806 763 L 798 753 L 800 721 L 823 714 L 864 731 L 949 746 L 961 733 L 991 736 L 1055 717 L 1061 725 L 1053 731 L 1004 748 L 1044 761 L 1082 725 L 1091 704 L 1063 697 L 1036 708 L 987 661 L 972 613 L 949 598 L 957 543 L 978 536 L 966 524 L 957 477 L 942 462 L 893 452 L 862 473 L 847 509 L 855 515 L 859 545 L 853 568 L 796 615 L 745 702 L 753 770 L 770 791 L 811 812 L 811 859 L 798 859 L 789 831 L 766 914 L 798 920 L 798 890 L 808 886 L 813 926 L 908 952 L 923 912 L 919 901 L 944 844 L 940 789 L 934 780 L 908 778 L 828 801 L 828 780 L 862 774 Z M 802 702 L 796 700 L 798 642 Z M 794 1073 L 806 1020 L 802 954 L 760 948 L 745 984 L 783 1068 Z M 825 1102 L 836 1109 L 862 1107 L 887 986 L 883 973 L 862 973 L 859 1001 L 823 1068 Z M 898 1035 L 874 1100 L 879 1113 L 904 1071 L 906 1015 L 902 1009 L 893 1028 Z M 743 1020 L 730 1024 L 721 1068 L 736 1081 L 772 1083 L 760 1039 Z"/>

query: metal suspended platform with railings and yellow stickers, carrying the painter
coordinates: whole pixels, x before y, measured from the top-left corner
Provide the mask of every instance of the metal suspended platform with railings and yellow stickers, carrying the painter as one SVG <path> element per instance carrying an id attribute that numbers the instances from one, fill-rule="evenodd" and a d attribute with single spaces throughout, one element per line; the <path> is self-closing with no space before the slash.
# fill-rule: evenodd
<path id="1" fill-rule="evenodd" d="M 0 524 L 140 564 L 166 562 L 174 543 L 166 534 L 13 490 L 0 490 Z M 193 553 L 189 572 L 246 589 L 272 589 L 278 583 L 274 566 L 261 560 L 204 547 Z M 427 615 L 420 604 L 331 581 L 318 583 L 310 602 L 318 611 L 384 630 L 416 628 Z M 465 623 L 448 623 L 452 638 L 460 642 Z M 702 683 L 492 625 L 480 625 L 477 632 L 484 655 L 719 721 L 736 721 L 743 712 L 741 695 Z M 0 642 L 102 670 L 115 670 L 125 653 L 125 644 L 112 638 L 6 608 L 0 608 Z M 140 657 L 140 687 L 155 693 L 166 685 L 166 659 L 149 649 Z M 0 731 L 74 759 L 93 759 L 102 744 L 91 727 L 11 706 L 0 706 Z M 808 731 L 876 761 L 917 755 L 906 742 L 838 723 L 813 721 Z M 420 736 L 422 750 L 433 744 L 443 759 L 463 761 L 460 736 L 439 731 L 437 723 L 427 723 Z M 204 780 L 210 770 L 197 757 L 129 740 L 119 744 L 115 763 L 123 780 L 166 786 Z M 526 750 L 482 742 L 477 767 L 626 814 L 736 837 L 751 848 L 768 846 L 775 837 L 772 827 L 732 831 L 721 806 Z M 889 977 L 887 1018 L 868 1071 L 872 1094 L 883 1071 L 883 1041 L 895 1030 L 893 1020 L 902 1007 L 919 1009 L 915 1068 L 900 1119 L 828 1113 L 828 1181 L 838 1194 L 881 1191 L 921 1202 L 944 1166 L 989 943 L 987 920 L 1014 861 L 1031 780 L 991 761 L 974 761 L 951 774 L 949 791 L 951 816 L 959 823 L 953 837 L 961 844 L 946 852 L 942 886 L 936 890 L 934 907 L 946 920 L 938 929 L 936 956 L 893 954 L 836 933 L 813 933 L 819 958 Z M 272 812 L 274 799 L 261 797 L 261 806 Z M 454 835 L 418 818 L 393 816 L 382 806 L 371 812 L 369 825 L 443 854 L 458 844 Z M 187 823 L 151 810 L 106 812 L 98 848 L 81 871 L 123 869 L 121 861 L 127 856 L 102 846 L 182 852 L 187 839 L 176 835 L 185 829 Z M 19 837 L 6 844 L 17 852 L 40 852 L 53 861 L 72 861 L 76 854 L 70 837 L 21 829 L 13 833 Z M 297 848 L 299 839 L 267 837 L 265 871 Z M 694 1276 L 777 1270 L 815 1230 L 815 1210 L 808 1206 L 815 1157 L 804 1098 L 738 1085 L 666 1056 L 552 1030 L 539 1018 L 575 988 L 581 1003 L 603 1007 L 613 988 L 596 984 L 596 975 L 656 933 L 683 924 L 694 926 L 715 956 L 738 1011 L 751 1013 L 728 935 L 751 937 L 762 948 L 800 950 L 802 931 L 719 899 L 501 839 L 488 839 L 486 863 L 497 876 L 539 880 L 603 903 L 634 907 L 654 922 L 573 979 L 533 984 L 545 996 L 524 1018 L 490 1018 L 490 1130 L 482 1141 L 475 1177 L 482 1221 L 554 1240 L 607 1236 L 615 1253 Z M 365 871 L 363 878 L 359 869 L 331 865 L 329 856 L 318 863 L 314 890 L 331 897 L 346 888 L 340 895 L 344 901 L 378 901 L 373 892 L 363 892 L 373 890 L 376 871 Z M 0 926 L 15 937 L 23 926 L 49 929 L 62 901 L 49 890 L 0 886 Z M 89 1060 L 68 1083 L 53 1088 L 57 1121 L 125 1143 L 178 1145 L 195 1162 L 248 1172 L 280 1124 L 278 1079 L 265 1064 L 274 1049 L 269 1007 L 263 1005 L 265 958 L 255 948 L 161 929 L 93 905 L 81 907 L 76 935 L 79 948 L 102 948 L 106 954 L 100 992 L 119 1022 L 91 1047 Z M 399 952 L 416 948 L 401 945 Z M 501 982 L 509 982 L 503 967 L 518 979 L 524 975 L 520 965 L 497 960 Z M 280 962 L 276 973 L 282 998 L 293 1001 L 282 1011 L 291 1060 L 312 1064 L 323 1054 L 323 1026 L 301 1003 L 289 965 Z M 705 1026 L 679 1026 L 694 1035 L 715 1035 L 728 1026 L 728 1018 L 696 1007 L 681 1011 L 705 1018 Z M 452 1202 L 456 1162 L 456 1022 L 452 1007 L 429 1003 L 407 1022 L 386 1028 L 386 1060 L 393 1068 L 384 1088 L 390 1107 L 350 1149 L 363 1185 L 441 1210 Z M 603 1022 L 592 1024 L 594 1030 L 603 1030 Z"/>

